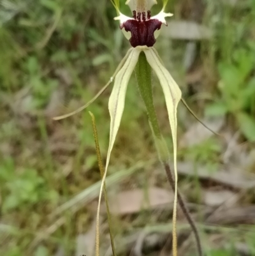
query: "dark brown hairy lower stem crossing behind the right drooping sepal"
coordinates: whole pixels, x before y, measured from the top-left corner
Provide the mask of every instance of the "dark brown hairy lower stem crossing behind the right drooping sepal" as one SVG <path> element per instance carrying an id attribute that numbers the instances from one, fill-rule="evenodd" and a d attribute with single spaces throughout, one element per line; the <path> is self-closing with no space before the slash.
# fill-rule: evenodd
<path id="1" fill-rule="evenodd" d="M 175 180 L 173 179 L 173 176 L 171 174 L 171 169 L 169 163 L 164 162 L 164 170 L 166 170 L 166 176 L 168 177 L 168 181 L 170 183 L 171 189 L 173 192 L 175 192 Z M 191 215 L 189 213 L 189 210 L 187 209 L 184 199 L 182 198 L 182 195 L 179 193 L 179 190 L 177 190 L 177 198 L 180 208 L 182 209 L 182 212 L 184 213 L 187 222 L 189 222 L 189 225 L 191 226 L 191 229 L 193 230 L 195 239 L 196 239 L 196 246 L 198 248 L 198 255 L 203 256 L 202 248 L 201 248 L 201 241 L 200 236 L 198 235 L 198 230 L 196 229 L 196 225 L 194 223 L 194 220 L 191 218 Z"/>

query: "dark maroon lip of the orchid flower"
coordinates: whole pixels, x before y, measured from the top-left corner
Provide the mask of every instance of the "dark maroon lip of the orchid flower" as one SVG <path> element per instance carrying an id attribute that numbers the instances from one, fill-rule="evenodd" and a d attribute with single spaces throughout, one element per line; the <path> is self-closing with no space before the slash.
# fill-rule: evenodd
<path id="1" fill-rule="evenodd" d="M 162 22 L 157 19 L 150 19 L 150 11 L 147 12 L 147 17 L 145 12 L 138 13 L 136 16 L 136 11 L 133 11 L 133 18 L 133 20 L 124 22 L 120 29 L 124 27 L 127 32 L 131 32 L 129 41 L 133 47 L 139 45 L 152 47 L 156 43 L 154 31 L 161 28 Z"/>

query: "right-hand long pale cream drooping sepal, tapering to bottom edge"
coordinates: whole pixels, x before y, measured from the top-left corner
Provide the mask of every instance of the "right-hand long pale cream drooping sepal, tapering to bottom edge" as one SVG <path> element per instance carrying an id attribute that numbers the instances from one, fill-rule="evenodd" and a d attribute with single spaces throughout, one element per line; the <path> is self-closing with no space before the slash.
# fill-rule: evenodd
<path id="1" fill-rule="evenodd" d="M 180 102 L 182 93 L 179 86 L 173 80 L 170 73 L 159 61 L 154 47 L 145 49 L 147 61 L 156 72 L 159 82 L 163 88 L 164 98 L 166 100 L 166 108 L 171 126 L 171 135 L 173 137 L 173 167 L 175 172 L 175 200 L 173 206 L 173 256 L 177 256 L 177 235 L 176 235 L 176 219 L 177 219 L 177 105 Z"/>

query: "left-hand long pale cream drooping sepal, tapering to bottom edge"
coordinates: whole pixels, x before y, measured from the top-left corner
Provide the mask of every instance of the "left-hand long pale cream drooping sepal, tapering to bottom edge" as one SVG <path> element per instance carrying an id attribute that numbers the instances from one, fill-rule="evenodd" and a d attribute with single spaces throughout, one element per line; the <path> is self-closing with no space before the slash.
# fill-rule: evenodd
<path id="1" fill-rule="evenodd" d="M 105 184 L 105 178 L 108 170 L 108 165 L 110 162 L 110 154 L 112 152 L 113 144 L 115 142 L 115 138 L 117 136 L 117 132 L 120 126 L 120 119 L 122 117 L 122 113 L 124 110 L 125 96 L 126 90 L 128 86 L 129 79 L 133 70 L 135 69 L 136 63 L 138 61 L 138 57 L 140 55 L 141 50 L 138 48 L 134 48 L 131 50 L 126 63 L 122 66 L 119 73 L 117 73 L 112 94 L 109 99 L 108 108 L 110 112 L 110 139 L 108 146 L 108 153 L 106 156 L 106 165 L 105 165 L 105 173 L 102 178 L 101 188 L 99 192 L 98 199 L 98 211 L 96 214 L 96 225 L 99 227 L 99 209 L 101 204 L 101 197 L 103 192 L 103 186 Z M 99 230 L 96 230 L 98 236 L 96 240 L 98 241 L 97 245 L 99 245 Z M 99 246 L 96 246 L 96 256 L 99 256 Z"/>

